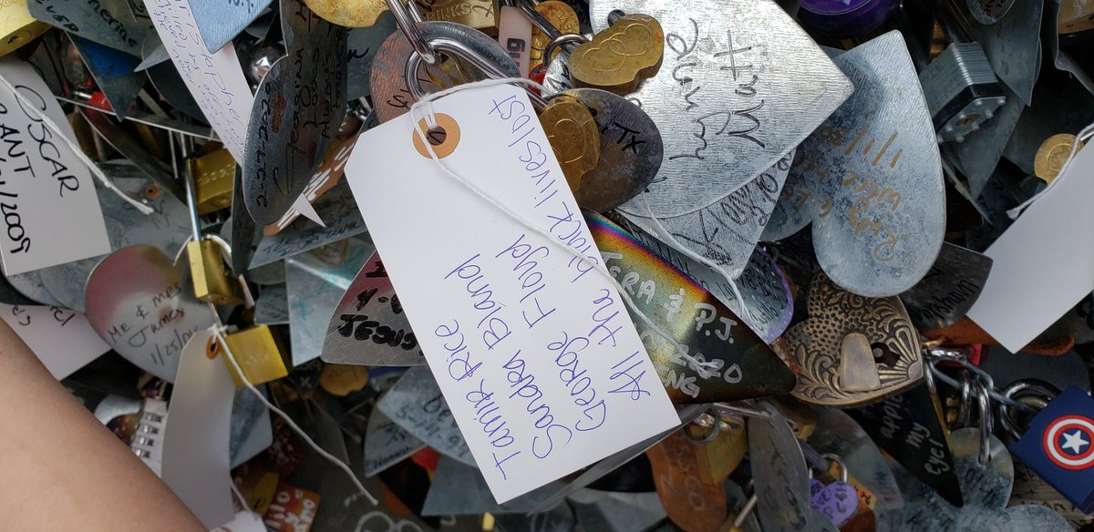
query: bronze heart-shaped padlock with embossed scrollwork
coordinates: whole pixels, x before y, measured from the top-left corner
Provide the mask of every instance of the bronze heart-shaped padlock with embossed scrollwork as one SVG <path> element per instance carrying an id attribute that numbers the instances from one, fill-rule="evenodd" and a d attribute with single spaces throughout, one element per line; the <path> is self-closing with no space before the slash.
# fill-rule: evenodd
<path id="1" fill-rule="evenodd" d="M 808 319 L 782 336 L 801 366 L 795 398 L 859 406 L 923 379 L 919 333 L 896 296 L 862 297 L 818 273 L 806 307 Z"/>

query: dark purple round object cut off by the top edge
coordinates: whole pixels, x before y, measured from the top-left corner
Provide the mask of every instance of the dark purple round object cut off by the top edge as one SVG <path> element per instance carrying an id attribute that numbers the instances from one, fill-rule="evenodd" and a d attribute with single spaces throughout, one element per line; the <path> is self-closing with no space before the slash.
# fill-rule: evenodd
<path id="1" fill-rule="evenodd" d="M 802 0 L 798 19 L 825 37 L 850 38 L 877 29 L 899 5 L 899 0 Z"/>

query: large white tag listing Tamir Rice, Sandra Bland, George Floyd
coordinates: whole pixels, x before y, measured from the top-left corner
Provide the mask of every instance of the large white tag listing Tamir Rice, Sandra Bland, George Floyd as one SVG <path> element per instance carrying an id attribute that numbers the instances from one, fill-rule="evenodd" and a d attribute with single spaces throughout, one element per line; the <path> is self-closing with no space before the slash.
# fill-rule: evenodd
<path id="1" fill-rule="evenodd" d="M 524 91 L 433 104 L 447 176 L 410 115 L 346 175 L 410 326 L 498 503 L 679 424 Z M 578 251 L 574 257 L 567 247 Z"/>

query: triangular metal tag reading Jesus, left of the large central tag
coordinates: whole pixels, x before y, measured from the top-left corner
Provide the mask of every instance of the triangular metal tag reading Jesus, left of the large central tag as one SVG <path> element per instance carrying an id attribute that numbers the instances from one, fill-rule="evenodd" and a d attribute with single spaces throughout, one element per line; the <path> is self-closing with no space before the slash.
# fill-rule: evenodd
<path id="1" fill-rule="evenodd" d="M 419 366 L 426 356 L 379 253 L 372 253 L 342 295 L 327 326 L 323 362 Z"/>

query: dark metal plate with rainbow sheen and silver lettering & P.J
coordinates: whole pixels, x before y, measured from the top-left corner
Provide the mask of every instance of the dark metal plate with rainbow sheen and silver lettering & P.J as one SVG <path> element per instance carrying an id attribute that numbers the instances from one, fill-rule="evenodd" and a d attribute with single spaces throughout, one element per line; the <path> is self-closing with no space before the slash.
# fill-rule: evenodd
<path id="1" fill-rule="evenodd" d="M 631 318 L 674 403 L 712 403 L 787 393 L 794 373 L 741 318 L 668 261 L 654 255 L 621 227 L 584 211 L 589 230 L 615 276 L 635 305 L 699 360 L 715 364 L 701 369 L 679 356 L 676 347 Z"/>

